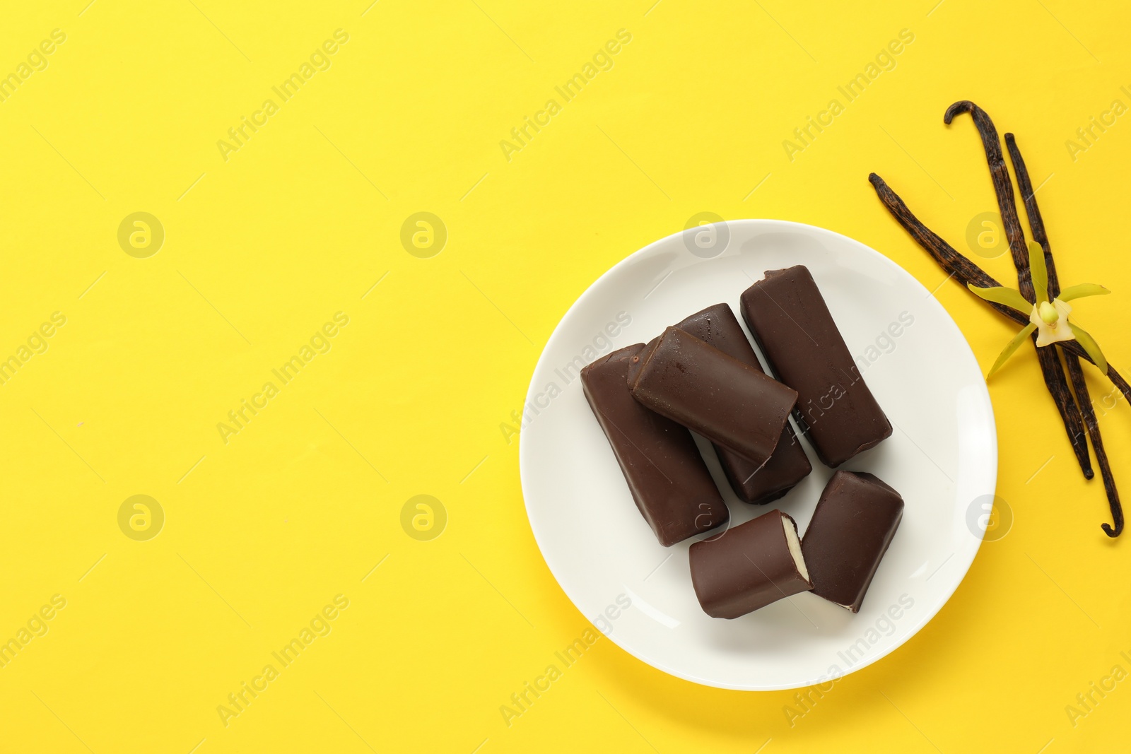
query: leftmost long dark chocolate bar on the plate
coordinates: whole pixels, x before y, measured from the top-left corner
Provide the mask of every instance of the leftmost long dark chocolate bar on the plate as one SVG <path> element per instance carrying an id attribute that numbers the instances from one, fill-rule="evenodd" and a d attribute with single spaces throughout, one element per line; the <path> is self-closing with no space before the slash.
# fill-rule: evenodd
<path id="1" fill-rule="evenodd" d="M 598 358 L 581 370 L 581 385 L 632 500 L 668 547 L 726 523 L 731 513 L 691 433 L 632 399 L 629 359 L 641 348 L 638 343 Z"/>

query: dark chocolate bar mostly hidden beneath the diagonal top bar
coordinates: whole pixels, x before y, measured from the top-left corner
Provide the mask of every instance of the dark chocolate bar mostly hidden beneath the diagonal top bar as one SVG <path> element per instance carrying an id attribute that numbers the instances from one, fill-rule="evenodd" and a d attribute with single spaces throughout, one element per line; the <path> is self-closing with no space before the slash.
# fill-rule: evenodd
<path id="1" fill-rule="evenodd" d="M 742 331 L 742 326 L 728 304 L 708 306 L 675 327 L 746 366 L 762 371 L 754 349 L 746 340 L 746 333 Z M 722 445 L 716 444 L 715 452 L 718 453 L 719 463 L 735 494 L 748 503 L 759 505 L 782 497 L 813 470 L 789 422 L 785 423 L 777 448 L 761 468 Z"/>

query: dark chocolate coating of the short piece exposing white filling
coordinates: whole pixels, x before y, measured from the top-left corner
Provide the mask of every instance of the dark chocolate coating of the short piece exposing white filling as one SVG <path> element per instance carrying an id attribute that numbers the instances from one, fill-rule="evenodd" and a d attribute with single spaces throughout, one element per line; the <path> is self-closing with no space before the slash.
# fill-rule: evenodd
<path id="1" fill-rule="evenodd" d="M 789 554 L 783 519 L 797 530 L 793 518 L 774 510 L 691 545 L 691 583 L 707 615 L 736 618 L 813 588 Z"/>

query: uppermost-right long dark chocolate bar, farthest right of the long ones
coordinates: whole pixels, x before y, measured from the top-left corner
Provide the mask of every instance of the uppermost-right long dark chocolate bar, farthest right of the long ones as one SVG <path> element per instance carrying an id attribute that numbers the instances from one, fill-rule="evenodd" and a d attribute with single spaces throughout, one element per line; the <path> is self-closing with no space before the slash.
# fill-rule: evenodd
<path id="1" fill-rule="evenodd" d="M 797 391 L 794 417 L 822 463 L 840 466 L 891 435 L 805 267 L 768 270 L 742 294 L 742 317 L 770 370 Z"/>

